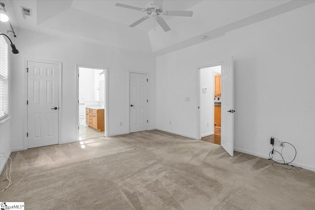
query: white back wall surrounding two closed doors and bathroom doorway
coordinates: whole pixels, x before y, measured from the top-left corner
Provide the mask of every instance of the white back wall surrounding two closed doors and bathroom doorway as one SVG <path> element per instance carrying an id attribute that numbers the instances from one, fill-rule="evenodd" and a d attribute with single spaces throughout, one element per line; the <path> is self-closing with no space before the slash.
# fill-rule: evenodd
<path id="1" fill-rule="evenodd" d="M 25 58 L 63 62 L 61 143 L 76 136 L 76 64 L 109 68 L 109 134 L 127 133 L 128 71 L 149 72 L 149 127 L 156 127 L 156 60 L 148 55 L 128 52 L 123 48 L 85 42 L 75 37 L 56 37 L 46 33 L 16 29 L 15 45 L 20 51 L 12 58 L 12 148 L 23 149 L 25 106 Z M 120 126 L 119 122 L 123 122 Z"/>

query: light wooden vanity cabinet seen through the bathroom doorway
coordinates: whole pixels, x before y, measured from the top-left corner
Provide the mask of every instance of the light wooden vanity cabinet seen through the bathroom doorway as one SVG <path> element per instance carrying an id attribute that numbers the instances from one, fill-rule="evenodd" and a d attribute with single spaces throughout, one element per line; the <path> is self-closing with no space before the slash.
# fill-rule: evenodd
<path id="1" fill-rule="evenodd" d="M 104 110 L 87 108 L 87 124 L 97 131 L 104 131 Z"/>

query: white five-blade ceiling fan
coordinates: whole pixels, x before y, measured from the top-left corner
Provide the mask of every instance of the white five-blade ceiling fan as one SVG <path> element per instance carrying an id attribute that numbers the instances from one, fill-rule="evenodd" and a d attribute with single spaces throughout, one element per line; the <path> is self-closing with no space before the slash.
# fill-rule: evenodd
<path id="1" fill-rule="evenodd" d="M 149 19 L 151 16 L 156 19 L 160 27 L 166 32 L 171 30 L 169 26 L 166 24 L 166 22 L 163 20 L 160 15 L 166 15 L 166 16 L 184 16 L 184 17 L 191 17 L 192 11 L 174 11 L 174 10 L 163 10 L 162 8 L 162 1 L 163 0 L 154 0 L 152 3 L 149 3 L 146 8 L 140 8 L 136 6 L 129 6 L 122 3 L 116 3 L 115 6 L 125 7 L 128 9 L 134 9 L 139 10 L 142 12 L 146 12 L 148 15 L 140 18 L 133 24 L 131 24 L 129 27 L 135 27 L 142 23 L 143 21 Z"/>

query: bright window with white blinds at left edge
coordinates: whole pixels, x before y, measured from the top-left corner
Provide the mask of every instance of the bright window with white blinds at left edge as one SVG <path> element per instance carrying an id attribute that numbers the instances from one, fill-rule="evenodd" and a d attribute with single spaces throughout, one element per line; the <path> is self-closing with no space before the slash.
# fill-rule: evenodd
<path id="1" fill-rule="evenodd" d="M 9 111 L 8 44 L 0 36 L 0 119 Z"/>

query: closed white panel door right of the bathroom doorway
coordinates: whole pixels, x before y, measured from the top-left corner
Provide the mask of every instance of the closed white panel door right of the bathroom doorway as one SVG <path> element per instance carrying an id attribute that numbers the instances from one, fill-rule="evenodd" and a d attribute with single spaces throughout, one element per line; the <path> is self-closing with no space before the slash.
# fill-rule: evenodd
<path id="1" fill-rule="evenodd" d="M 130 133 L 148 130 L 148 75 L 130 73 Z"/>

